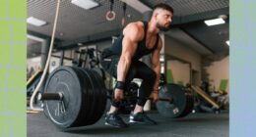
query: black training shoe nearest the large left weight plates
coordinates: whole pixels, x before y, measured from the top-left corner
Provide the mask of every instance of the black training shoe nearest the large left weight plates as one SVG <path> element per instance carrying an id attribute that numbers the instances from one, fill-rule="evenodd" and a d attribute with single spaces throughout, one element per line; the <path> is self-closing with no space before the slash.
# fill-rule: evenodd
<path id="1" fill-rule="evenodd" d="M 119 128 L 128 127 L 128 125 L 123 121 L 123 119 L 116 113 L 106 114 L 105 125 L 110 125 Z"/>

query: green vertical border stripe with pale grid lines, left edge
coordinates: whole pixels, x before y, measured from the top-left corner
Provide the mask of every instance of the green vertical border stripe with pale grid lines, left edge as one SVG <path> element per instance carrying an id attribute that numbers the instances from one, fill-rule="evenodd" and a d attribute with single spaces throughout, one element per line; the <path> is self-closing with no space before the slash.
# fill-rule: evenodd
<path id="1" fill-rule="evenodd" d="M 0 0 L 0 137 L 26 137 L 27 1 Z"/>

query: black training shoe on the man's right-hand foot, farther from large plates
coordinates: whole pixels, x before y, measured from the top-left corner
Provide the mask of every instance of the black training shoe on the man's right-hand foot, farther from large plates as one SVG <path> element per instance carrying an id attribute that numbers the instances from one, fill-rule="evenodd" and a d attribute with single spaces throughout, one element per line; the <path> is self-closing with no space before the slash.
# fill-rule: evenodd
<path id="1" fill-rule="evenodd" d="M 150 123 L 150 124 L 157 124 L 157 122 L 153 119 L 151 119 L 146 113 L 141 112 L 137 114 L 130 114 L 130 120 L 131 123 Z"/>

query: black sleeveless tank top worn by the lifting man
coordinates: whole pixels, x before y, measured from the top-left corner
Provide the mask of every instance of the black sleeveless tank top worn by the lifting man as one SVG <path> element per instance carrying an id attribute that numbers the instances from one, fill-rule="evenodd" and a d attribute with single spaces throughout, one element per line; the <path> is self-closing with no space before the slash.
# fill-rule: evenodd
<path id="1" fill-rule="evenodd" d="M 157 41 L 156 44 L 154 46 L 154 48 L 152 49 L 148 49 L 146 47 L 146 37 L 147 37 L 147 30 L 148 30 L 148 23 L 147 22 L 143 22 L 144 23 L 144 38 L 142 41 L 140 41 L 138 43 L 138 47 L 137 50 L 132 58 L 133 61 L 138 61 L 139 59 L 141 59 L 144 55 L 148 55 L 150 53 L 152 53 L 155 49 L 158 48 L 159 45 L 159 35 L 157 36 Z M 123 34 L 121 34 L 112 44 L 112 46 L 110 46 L 109 48 L 107 48 L 107 53 L 108 56 L 121 56 L 122 53 L 122 41 L 123 41 Z"/>

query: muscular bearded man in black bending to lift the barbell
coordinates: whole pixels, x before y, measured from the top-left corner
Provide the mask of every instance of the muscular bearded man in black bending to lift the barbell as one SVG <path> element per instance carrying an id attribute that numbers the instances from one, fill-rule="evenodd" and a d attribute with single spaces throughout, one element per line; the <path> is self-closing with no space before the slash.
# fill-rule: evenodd
<path id="1" fill-rule="evenodd" d="M 159 98 L 160 82 L 160 49 L 162 42 L 159 36 L 161 29 L 169 28 L 173 9 L 166 4 L 154 7 L 149 23 L 129 23 L 123 33 L 111 47 L 103 50 L 100 64 L 112 76 L 117 78 L 113 92 L 113 101 L 105 117 L 105 124 L 115 127 L 127 127 L 127 124 L 116 113 L 123 99 L 124 91 L 133 78 L 142 79 L 139 97 L 129 122 L 156 122 L 143 112 L 145 97 Z M 139 61 L 144 55 L 152 54 L 152 68 Z"/>

